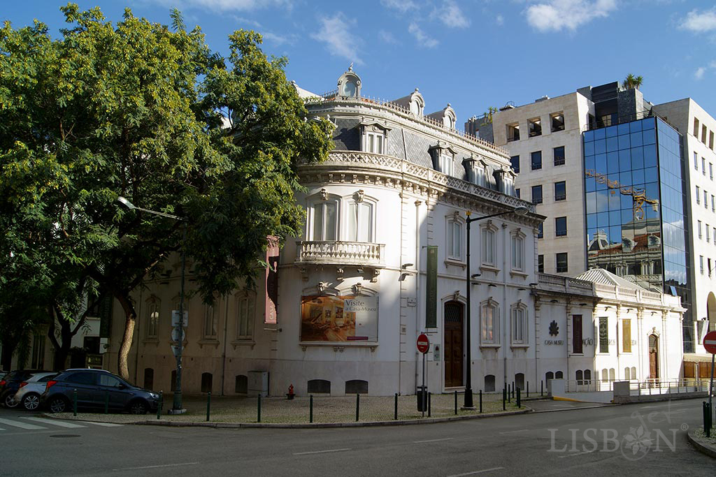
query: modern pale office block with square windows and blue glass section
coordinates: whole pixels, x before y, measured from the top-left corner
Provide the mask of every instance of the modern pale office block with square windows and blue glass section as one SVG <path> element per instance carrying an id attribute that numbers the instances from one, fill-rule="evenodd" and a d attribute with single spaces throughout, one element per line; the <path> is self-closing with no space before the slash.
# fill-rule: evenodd
<path id="1" fill-rule="evenodd" d="M 547 217 L 540 270 L 604 267 L 679 295 L 684 351 L 702 352 L 716 328 L 715 120 L 692 99 L 651 104 L 616 82 L 508 105 L 490 119 L 469 127 L 510 151 L 517 194 Z"/>

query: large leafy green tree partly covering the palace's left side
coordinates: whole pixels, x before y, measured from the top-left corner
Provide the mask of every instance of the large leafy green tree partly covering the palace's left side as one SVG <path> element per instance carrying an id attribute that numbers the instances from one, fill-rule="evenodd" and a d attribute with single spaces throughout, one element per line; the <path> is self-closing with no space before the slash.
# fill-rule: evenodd
<path id="1" fill-rule="evenodd" d="M 251 282 L 267 235 L 298 233 L 296 162 L 327 156 L 329 123 L 306 121 L 286 59 L 267 58 L 256 33 L 231 35 L 225 59 L 178 11 L 173 29 L 128 9 L 116 25 L 99 9 L 62 11 L 61 39 L 37 21 L 0 31 L 0 227 L 13 237 L 0 241 L 0 285 L 32 261 L 24 279 L 70 322 L 107 290 L 125 314 L 127 378 L 132 292 L 180 249 L 182 225 L 117 197 L 183 217 L 211 302 Z"/>

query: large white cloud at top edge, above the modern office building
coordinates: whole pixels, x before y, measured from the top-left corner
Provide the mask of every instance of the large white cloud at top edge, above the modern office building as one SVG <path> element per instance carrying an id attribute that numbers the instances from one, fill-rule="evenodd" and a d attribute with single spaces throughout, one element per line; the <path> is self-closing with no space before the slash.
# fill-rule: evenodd
<path id="1" fill-rule="evenodd" d="M 574 31 L 616 9 L 616 0 L 549 0 L 528 6 L 527 22 L 538 31 Z"/>

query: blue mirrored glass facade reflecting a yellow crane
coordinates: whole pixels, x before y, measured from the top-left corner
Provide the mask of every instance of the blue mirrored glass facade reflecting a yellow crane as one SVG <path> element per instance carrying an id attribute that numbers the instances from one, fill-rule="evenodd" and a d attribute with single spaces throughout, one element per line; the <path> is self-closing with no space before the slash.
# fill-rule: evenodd
<path id="1" fill-rule="evenodd" d="M 586 131 L 582 142 L 587 267 L 677 294 L 690 308 L 681 135 L 659 117 L 644 117 Z M 691 330 L 687 312 L 684 351 Z"/>

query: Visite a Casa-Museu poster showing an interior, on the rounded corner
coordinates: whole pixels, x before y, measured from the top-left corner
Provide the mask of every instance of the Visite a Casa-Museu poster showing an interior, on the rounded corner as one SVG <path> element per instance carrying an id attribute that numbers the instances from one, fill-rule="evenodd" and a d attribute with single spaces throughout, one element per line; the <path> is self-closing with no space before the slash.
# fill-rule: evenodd
<path id="1" fill-rule="evenodd" d="M 378 341 L 378 297 L 301 297 L 301 341 Z"/>

